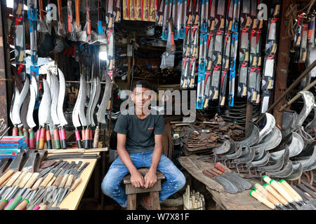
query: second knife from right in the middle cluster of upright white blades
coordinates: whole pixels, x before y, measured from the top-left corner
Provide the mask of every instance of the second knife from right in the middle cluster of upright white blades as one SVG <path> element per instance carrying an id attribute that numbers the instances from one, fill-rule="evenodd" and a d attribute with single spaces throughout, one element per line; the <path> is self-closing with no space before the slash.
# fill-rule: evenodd
<path id="1" fill-rule="evenodd" d="M 57 76 L 52 76 L 53 78 L 53 95 L 52 102 L 51 102 L 51 118 L 53 120 L 53 136 L 54 136 L 54 143 L 55 148 L 60 149 L 60 138 L 58 134 L 58 125 L 60 125 L 58 115 L 57 115 L 57 105 L 58 105 L 58 95 L 59 95 L 59 83 Z"/>

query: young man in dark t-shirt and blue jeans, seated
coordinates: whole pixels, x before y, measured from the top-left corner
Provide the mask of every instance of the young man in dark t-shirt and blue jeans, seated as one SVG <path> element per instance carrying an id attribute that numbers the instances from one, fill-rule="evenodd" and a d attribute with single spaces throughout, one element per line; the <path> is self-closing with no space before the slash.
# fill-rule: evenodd
<path id="1" fill-rule="evenodd" d="M 185 176 L 173 165 L 173 162 L 162 154 L 162 134 L 164 120 L 162 115 L 148 109 L 151 99 L 151 85 L 140 80 L 133 85 L 131 99 L 134 106 L 128 109 L 127 115 L 121 114 L 117 119 L 114 131 L 117 132 L 117 153 L 102 181 L 102 191 L 112 197 L 121 207 L 127 207 L 127 196 L 120 186 L 126 174 L 131 174 L 131 183 L 136 188 L 151 188 L 157 182 L 156 171 L 166 177 L 159 192 L 159 201 L 166 200 L 185 185 Z M 150 113 L 148 113 L 150 112 Z M 155 111 L 157 112 L 157 111 Z M 138 172 L 139 167 L 150 167 L 143 177 Z M 144 197 L 140 204 L 145 209 L 150 208 L 150 196 Z"/>

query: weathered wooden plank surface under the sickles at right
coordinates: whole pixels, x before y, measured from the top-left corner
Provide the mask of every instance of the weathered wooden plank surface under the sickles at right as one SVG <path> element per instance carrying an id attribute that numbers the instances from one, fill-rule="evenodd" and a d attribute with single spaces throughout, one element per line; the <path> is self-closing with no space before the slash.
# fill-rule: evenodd
<path id="1" fill-rule="evenodd" d="M 190 158 L 200 167 L 199 169 L 195 168 L 195 165 L 192 165 L 191 162 L 187 160 Z M 203 169 L 214 167 L 213 162 L 203 162 L 196 159 L 196 155 L 184 156 L 178 158 L 180 165 L 187 170 L 195 179 L 204 183 L 206 189 L 209 190 L 211 195 L 213 195 L 213 200 L 220 206 L 222 209 L 227 210 L 270 210 L 264 204 L 261 204 L 254 197 L 249 195 L 250 190 L 244 190 L 241 193 L 230 194 L 224 191 L 223 186 L 221 186 L 213 179 L 202 174 Z M 257 183 L 258 180 L 247 179 L 251 183 Z"/>

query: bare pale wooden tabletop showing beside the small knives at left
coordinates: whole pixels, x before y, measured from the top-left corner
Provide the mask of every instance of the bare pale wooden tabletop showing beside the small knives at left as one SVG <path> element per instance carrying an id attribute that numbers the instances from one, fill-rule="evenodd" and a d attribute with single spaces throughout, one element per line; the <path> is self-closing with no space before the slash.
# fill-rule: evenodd
<path id="1" fill-rule="evenodd" d="M 85 154 L 91 154 L 91 153 L 85 153 Z M 99 152 L 97 154 L 100 155 Z M 54 155 L 54 154 L 48 154 L 48 155 Z M 90 162 L 88 167 L 86 167 L 86 169 L 84 169 L 84 171 L 79 176 L 81 178 L 81 183 L 79 183 L 79 186 L 77 186 L 77 188 L 72 193 L 67 195 L 67 197 L 65 197 L 64 200 L 62 200 L 62 202 L 59 205 L 60 209 L 76 210 L 77 207 L 79 206 L 82 196 L 84 195 L 84 191 L 86 190 L 86 186 L 88 185 L 88 182 L 91 178 L 91 174 L 93 173 L 93 170 L 96 167 L 97 160 L 96 159 L 69 159 L 65 161 L 67 162 L 82 161 L 82 165 L 84 165 L 85 162 Z M 53 207 L 54 206 L 55 204 L 53 204 Z"/>

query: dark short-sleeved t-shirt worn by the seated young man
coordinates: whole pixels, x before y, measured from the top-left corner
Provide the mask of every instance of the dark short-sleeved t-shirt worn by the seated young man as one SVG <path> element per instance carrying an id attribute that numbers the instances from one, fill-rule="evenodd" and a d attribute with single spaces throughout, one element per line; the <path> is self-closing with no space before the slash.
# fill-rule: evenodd
<path id="1" fill-rule="evenodd" d="M 125 148 L 129 153 L 154 151 L 154 134 L 164 134 L 163 116 L 152 110 L 146 118 L 140 119 L 135 112 L 131 113 L 133 110 L 131 107 L 127 115 L 119 115 L 114 131 L 126 134 Z"/>

